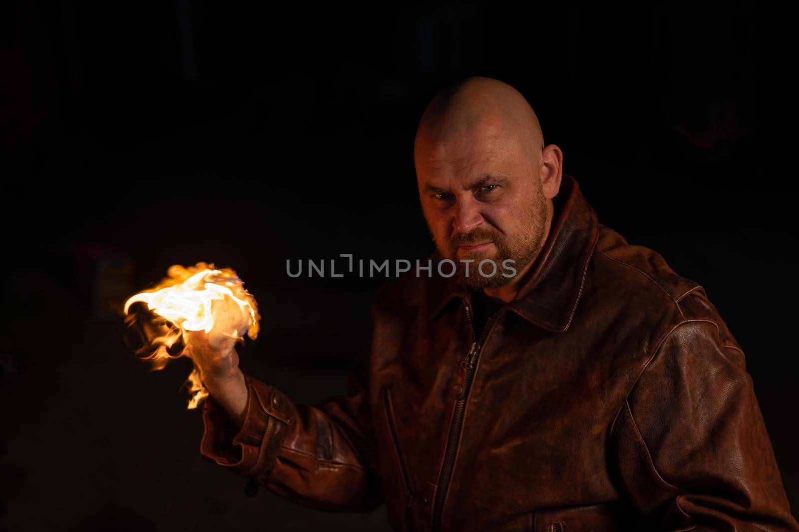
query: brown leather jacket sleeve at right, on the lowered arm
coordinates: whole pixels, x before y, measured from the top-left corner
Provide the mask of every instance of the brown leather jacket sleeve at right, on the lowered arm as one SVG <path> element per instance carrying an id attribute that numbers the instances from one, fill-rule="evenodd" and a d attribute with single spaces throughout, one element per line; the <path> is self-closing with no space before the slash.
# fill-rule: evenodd
<path id="1" fill-rule="evenodd" d="M 674 328 L 612 429 L 647 530 L 799 530 L 744 355 L 710 320 Z"/>

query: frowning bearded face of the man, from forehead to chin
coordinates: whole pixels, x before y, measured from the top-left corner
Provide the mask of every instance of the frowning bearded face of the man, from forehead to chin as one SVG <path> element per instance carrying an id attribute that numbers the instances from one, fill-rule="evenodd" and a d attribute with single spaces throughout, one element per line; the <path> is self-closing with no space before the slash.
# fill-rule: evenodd
<path id="1" fill-rule="evenodd" d="M 531 154 L 532 153 L 532 154 Z M 416 146 L 416 177 L 425 220 L 439 252 L 458 264 L 472 288 L 497 288 L 513 280 L 503 276 L 503 261 L 521 272 L 538 254 L 546 232 L 550 203 L 539 175 L 540 153 L 524 149 L 502 128 L 483 127 L 447 141 L 422 139 Z M 472 259 L 468 276 L 466 264 Z M 485 277 L 477 266 L 491 259 L 496 274 Z M 491 273 L 486 264 L 483 272 Z"/>

